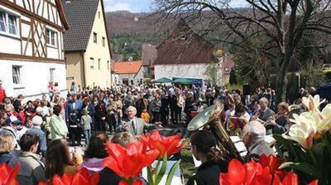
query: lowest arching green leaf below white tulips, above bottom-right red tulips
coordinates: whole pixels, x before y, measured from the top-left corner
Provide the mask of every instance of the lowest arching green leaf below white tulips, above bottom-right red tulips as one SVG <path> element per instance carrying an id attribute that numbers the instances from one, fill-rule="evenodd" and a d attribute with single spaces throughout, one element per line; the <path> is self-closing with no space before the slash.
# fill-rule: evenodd
<path id="1" fill-rule="evenodd" d="M 309 163 L 285 162 L 279 167 L 279 169 L 282 168 L 292 168 L 294 170 L 298 170 L 302 173 L 312 176 L 315 179 L 319 179 L 319 177 L 321 177 L 320 169 L 316 168 L 316 166 L 311 165 Z"/>

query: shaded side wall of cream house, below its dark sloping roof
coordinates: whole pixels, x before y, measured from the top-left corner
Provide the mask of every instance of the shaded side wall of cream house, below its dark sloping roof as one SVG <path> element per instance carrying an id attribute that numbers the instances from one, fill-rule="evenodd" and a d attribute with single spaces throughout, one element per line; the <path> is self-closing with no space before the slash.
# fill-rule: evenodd
<path id="1" fill-rule="evenodd" d="M 80 52 L 65 53 L 67 64 L 67 87 L 71 87 L 71 83 L 85 87 L 84 70 L 83 70 L 83 55 Z M 71 78 L 74 77 L 74 80 Z"/>

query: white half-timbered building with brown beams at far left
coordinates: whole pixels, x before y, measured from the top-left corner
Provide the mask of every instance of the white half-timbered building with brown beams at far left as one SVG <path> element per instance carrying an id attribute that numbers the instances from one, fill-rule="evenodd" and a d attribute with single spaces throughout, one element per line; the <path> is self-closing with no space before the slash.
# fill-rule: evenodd
<path id="1" fill-rule="evenodd" d="M 0 80 L 10 96 L 36 98 L 48 82 L 66 93 L 61 0 L 0 0 Z"/>

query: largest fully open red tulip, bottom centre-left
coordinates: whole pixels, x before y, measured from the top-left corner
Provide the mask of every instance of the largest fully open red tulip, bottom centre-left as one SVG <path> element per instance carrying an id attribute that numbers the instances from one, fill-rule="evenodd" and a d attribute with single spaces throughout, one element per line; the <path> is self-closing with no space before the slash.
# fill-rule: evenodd
<path id="1" fill-rule="evenodd" d="M 104 165 L 125 179 L 138 176 L 141 169 L 150 166 L 159 155 L 156 149 L 146 151 L 143 142 L 133 142 L 126 148 L 111 142 L 106 145 L 109 156 L 103 160 Z"/>

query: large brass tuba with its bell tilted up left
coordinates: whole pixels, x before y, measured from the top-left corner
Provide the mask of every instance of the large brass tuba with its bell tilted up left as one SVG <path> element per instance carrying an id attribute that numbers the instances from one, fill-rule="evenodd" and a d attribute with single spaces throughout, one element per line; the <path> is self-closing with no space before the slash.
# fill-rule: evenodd
<path id="1" fill-rule="evenodd" d="M 216 102 L 215 105 L 207 107 L 204 111 L 191 120 L 187 130 L 190 132 L 202 128 L 209 130 L 216 138 L 218 147 L 225 157 L 228 159 L 236 158 L 244 162 L 243 157 L 240 155 L 240 152 L 237 150 L 236 146 L 230 139 L 230 136 L 225 131 L 220 120 L 219 115 L 223 108 L 224 105 L 219 102 Z"/>

